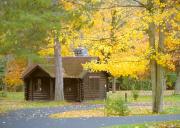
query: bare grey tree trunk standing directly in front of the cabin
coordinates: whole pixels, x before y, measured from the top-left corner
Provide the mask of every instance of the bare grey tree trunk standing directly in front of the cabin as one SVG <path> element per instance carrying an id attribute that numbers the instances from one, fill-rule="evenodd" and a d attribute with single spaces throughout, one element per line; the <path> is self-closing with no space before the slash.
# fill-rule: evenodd
<path id="1" fill-rule="evenodd" d="M 64 85 L 63 85 L 63 68 L 62 68 L 62 56 L 61 45 L 57 37 L 54 38 L 54 58 L 55 58 L 55 100 L 64 100 Z"/>

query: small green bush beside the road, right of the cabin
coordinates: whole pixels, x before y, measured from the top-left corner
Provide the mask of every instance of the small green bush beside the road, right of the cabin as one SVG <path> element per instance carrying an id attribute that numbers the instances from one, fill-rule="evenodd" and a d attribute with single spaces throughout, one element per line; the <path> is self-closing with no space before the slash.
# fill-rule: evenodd
<path id="1" fill-rule="evenodd" d="M 105 101 L 105 113 L 107 116 L 124 116 L 128 114 L 128 106 L 121 97 L 108 96 Z"/>

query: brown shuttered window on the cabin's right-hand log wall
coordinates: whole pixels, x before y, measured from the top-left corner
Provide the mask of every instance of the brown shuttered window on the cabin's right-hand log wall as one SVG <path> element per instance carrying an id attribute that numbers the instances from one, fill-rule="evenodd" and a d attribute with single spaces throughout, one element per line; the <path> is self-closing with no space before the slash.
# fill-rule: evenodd
<path id="1" fill-rule="evenodd" d="M 89 87 L 91 90 L 99 90 L 99 76 L 89 76 Z"/>

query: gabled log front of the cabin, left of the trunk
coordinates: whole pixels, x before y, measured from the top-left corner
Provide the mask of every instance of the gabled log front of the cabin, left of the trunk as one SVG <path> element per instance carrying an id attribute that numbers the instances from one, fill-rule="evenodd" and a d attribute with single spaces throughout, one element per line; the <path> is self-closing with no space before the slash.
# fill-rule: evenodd
<path id="1" fill-rule="evenodd" d="M 37 91 L 35 86 L 37 80 L 41 79 L 42 91 Z M 40 69 L 36 69 L 28 76 L 25 82 L 25 99 L 26 100 L 54 100 L 53 79 L 47 73 Z"/>

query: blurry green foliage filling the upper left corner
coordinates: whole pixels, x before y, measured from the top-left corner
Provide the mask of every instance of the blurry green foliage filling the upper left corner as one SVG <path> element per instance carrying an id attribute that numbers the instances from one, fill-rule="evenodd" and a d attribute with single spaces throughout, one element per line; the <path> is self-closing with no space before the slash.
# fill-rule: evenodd
<path id="1" fill-rule="evenodd" d="M 46 45 L 52 29 L 60 29 L 66 11 L 54 8 L 51 0 L 0 1 L 0 53 L 37 51 Z"/>

